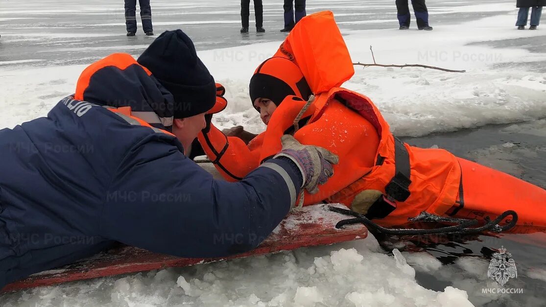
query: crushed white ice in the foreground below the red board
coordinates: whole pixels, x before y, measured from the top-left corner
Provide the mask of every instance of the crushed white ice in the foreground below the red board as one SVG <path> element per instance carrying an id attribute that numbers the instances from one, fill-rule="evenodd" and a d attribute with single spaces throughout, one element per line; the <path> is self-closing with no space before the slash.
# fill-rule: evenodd
<path id="1" fill-rule="evenodd" d="M 464 291 L 419 286 L 414 269 L 377 252 L 373 238 L 358 249 L 323 246 L 74 282 L 8 294 L 3 306 L 471 306 Z"/>

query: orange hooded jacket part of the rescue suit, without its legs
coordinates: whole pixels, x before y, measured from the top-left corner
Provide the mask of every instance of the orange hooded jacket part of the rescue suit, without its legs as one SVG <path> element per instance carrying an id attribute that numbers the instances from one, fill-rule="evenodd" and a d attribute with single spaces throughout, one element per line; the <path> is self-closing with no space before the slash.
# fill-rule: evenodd
<path id="1" fill-rule="evenodd" d="M 318 35 L 328 40 L 312 39 Z M 351 206 L 360 192 L 385 194 L 385 186 L 395 175 L 395 139 L 368 97 L 340 87 L 354 74 L 354 68 L 333 14 L 327 11 L 302 19 L 275 56 L 296 63 L 316 95 L 294 137 L 340 157 L 332 178 L 319 186 L 317 194 L 306 192 L 304 205 L 326 201 Z M 199 134 L 199 141 L 226 180 L 240 180 L 282 149 L 281 137 L 293 133 L 293 121 L 305 103 L 295 96 L 284 99 L 266 131 L 248 145 L 213 126 L 206 135 Z M 455 156 L 442 149 L 405 147 L 410 158 L 411 194 L 396 202 L 396 209 L 381 220 L 383 225 L 405 223 L 421 211 L 443 215 L 458 198 L 461 170 Z"/>

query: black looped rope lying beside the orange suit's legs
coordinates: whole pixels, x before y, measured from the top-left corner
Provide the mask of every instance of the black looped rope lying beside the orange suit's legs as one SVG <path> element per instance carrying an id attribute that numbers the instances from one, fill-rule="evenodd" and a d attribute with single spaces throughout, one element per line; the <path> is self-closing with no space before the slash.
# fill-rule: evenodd
<path id="1" fill-rule="evenodd" d="M 338 229 L 342 228 L 345 225 L 362 223 L 367 228 L 372 229 L 373 231 L 377 231 L 383 234 L 396 234 L 396 235 L 479 233 L 483 231 L 503 232 L 503 231 L 507 231 L 508 229 L 511 229 L 518 222 L 518 214 L 513 210 L 508 210 L 503 212 L 501 215 L 497 216 L 497 218 L 492 221 L 491 219 L 489 219 L 489 216 L 486 216 L 485 225 L 481 227 L 471 228 L 470 226 L 474 226 L 478 224 L 479 221 L 476 219 L 467 220 L 467 219 L 456 219 L 454 217 L 443 217 L 443 216 L 438 216 L 438 215 L 430 214 L 428 212 L 423 211 L 418 216 L 408 220 L 411 222 L 447 222 L 447 223 L 456 223 L 458 225 L 440 227 L 440 228 L 434 228 L 434 229 L 393 229 L 393 228 L 385 228 L 385 227 L 379 226 L 376 223 L 367 219 L 366 216 L 359 214 L 358 212 L 354 212 L 352 210 L 336 208 L 334 206 L 328 206 L 328 209 L 333 212 L 337 212 L 337 213 L 341 213 L 345 215 L 351 215 L 355 217 L 354 219 L 339 221 L 336 224 L 336 228 Z M 513 217 L 511 221 L 509 221 L 504 226 L 498 225 L 498 223 L 500 223 L 509 215 Z"/>

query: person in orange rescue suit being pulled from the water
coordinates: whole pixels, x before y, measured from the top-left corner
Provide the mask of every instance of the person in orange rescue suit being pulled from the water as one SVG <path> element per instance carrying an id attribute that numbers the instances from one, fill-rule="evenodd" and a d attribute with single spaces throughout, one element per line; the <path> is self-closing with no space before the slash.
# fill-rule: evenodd
<path id="1" fill-rule="evenodd" d="M 317 193 L 303 193 L 299 204 L 343 203 L 385 226 L 406 223 L 422 211 L 474 218 L 474 211 L 498 215 L 514 209 L 514 203 L 546 199 L 546 191 L 523 180 L 443 149 L 403 143 L 370 98 L 341 87 L 353 74 L 333 14 L 307 16 L 250 81 L 252 105 L 267 126 L 265 132 L 246 144 L 210 125 L 198 135 L 199 142 L 228 181 L 240 180 L 274 155 L 284 134 L 324 147 L 340 163 L 331 180 Z M 484 179 L 503 193 L 484 190 Z M 544 216 L 518 209 L 527 222 L 546 225 Z"/>

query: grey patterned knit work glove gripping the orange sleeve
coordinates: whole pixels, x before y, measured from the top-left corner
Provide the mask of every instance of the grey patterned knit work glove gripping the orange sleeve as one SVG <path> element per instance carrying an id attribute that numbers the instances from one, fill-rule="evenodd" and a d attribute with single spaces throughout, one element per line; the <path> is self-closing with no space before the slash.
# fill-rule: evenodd
<path id="1" fill-rule="evenodd" d="M 322 147 L 302 145 L 289 134 L 283 135 L 281 141 L 282 151 L 274 158 L 284 156 L 294 161 L 304 179 L 301 187 L 311 194 L 316 194 L 317 186 L 325 184 L 334 174 L 331 164 L 337 164 L 339 157 Z"/>

